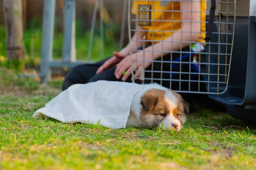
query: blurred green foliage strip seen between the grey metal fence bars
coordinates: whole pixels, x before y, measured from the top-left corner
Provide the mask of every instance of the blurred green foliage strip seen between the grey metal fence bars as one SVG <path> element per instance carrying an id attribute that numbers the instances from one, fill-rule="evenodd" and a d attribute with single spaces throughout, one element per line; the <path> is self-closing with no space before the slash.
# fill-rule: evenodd
<path id="1" fill-rule="evenodd" d="M 111 26 L 104 28 L 104 58 L 110 57 L 113 51 L 118 51 L 119 35 L 117 27 Z M 6 37 L 5 27 L 0 26 L 0 56 L 6 57 Z M 28 62 L 33 63 L 41 57 L 42 27 L 40 20 L 35 19 L 29 23 L 28 28 L 24 31 L 25 56 Z M 77 59 L 87 60 L 88 47 L 90 42 L 90 30 L 81 31 L 80 21 L 76 21 L 76 52 Z M 61 59 L 63 47 L 63 32 L 55 30 L 53 37 L 53 59 Z M 91 60 L 98 61 L 101 59 L 101 38 L 99 28 L 95 29 L 93 36 L 93 45 L 91 51 Z"/>

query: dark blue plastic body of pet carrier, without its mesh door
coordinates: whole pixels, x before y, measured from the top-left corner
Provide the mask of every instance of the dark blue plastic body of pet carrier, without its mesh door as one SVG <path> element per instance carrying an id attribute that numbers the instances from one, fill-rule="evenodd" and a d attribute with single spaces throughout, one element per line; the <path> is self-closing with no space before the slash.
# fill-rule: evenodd
<path id="1" fill-rule="evenodd" d="M 224 94 L 209 97 L 224 103 L 232 116 L 256 123 L 256 1 L 239 0 L 236 4 L 236 29 L 227 90 Z M 230 21 L 233 18 L 230 17 Z"/>

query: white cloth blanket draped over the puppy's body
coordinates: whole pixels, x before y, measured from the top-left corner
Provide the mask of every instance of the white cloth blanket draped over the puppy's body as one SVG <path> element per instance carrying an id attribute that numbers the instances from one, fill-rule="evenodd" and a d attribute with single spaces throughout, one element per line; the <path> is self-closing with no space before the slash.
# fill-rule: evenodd
<path id="1" fill-rule="evenodd" d="M 97 81 L 76 84 L 62 91 L 34 118 L 48 116 L 63 123 L 92 123 L 110 128 L 124 128 L 134 95 L 143 85 L 128 82 Z"/>

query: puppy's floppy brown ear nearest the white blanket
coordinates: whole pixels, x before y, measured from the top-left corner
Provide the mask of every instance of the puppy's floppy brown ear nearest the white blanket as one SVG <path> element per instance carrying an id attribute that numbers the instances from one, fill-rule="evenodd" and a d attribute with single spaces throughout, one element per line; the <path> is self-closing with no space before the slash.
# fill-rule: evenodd
<path id="1" fill-rule="evenodd" d="M 140 98 L 140 104 L 143 106 L 145 111 L 150 111 L 157 104 L 159 96 L 160 90 L 150 89 Z"/>

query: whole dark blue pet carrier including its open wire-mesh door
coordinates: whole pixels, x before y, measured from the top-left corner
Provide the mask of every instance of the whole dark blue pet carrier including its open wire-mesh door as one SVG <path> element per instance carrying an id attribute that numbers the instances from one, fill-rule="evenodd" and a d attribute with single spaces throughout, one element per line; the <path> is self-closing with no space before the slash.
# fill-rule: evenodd
<path id="1" fill-rule="evenodd" d="M 200 11 L 193 11 L 193 5 L 183 10 L 182 2 L 200 4 Z M 131 49 L 131 54 L 136 52 L 136 59 L 131 58 L 131 68 L 140 71 L 140 77 L 134 77 L 132 72 L 133 82 L 157 82 L 180 93 L 208 94 L 225 104 L 232 116 L 256 122 L 255 0 L 131 0 L 128 6 L 130 42 L 141 45 Z M 199 22 L 201 31 L 194 31 L 191 26 L 190 39 L 182 40 L 182 34 L 188 32 L 182 30 L 179 22 L 183 13 L 188 12 L 191 20 L 183 23 Z M 201 20 L 192 20 L 193 13 L 200 13 Z M 131 19 L 132 14 L 137 17 Z M 137 27 L 131 28 L 132 23 Z M 135 31 L 146 33 L 132 39 Z M 178 32 L 182 38 L 169 40 L 169 50 L 163 50 L 163 45 L 158 51 L 148 48 L 157 42 L 168 42 L 164 40 L 166 34 Z M 202 41 L 192 40 L 191 33 L 200 33 Z M 179 50 L 172 50 L 174 43 L 181 42 L 189 44 L 189 48 L 180 45 Z M 143 57 L 137 57 L 140 52 Z M 147 56 L 150 53 L 149 56 L 161 55 L 155 60 Z M 137 62 L 143 62 L 143 68 L 138 68 Z M 144 67 L 146 62 L 151 62 L 148 68 Z"/>

